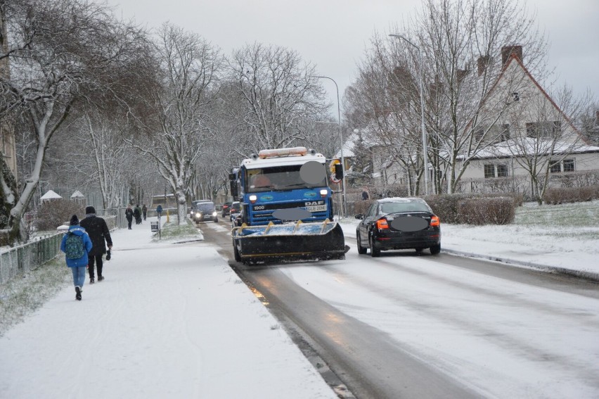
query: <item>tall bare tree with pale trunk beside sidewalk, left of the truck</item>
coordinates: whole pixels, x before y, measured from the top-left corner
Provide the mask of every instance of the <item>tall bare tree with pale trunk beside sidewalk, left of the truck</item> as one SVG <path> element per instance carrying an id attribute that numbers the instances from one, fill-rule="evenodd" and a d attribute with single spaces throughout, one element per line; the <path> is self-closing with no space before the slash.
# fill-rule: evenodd
<path id="1" fill-rule="evenodd" d="M 210 103 L 217 98 L 224 60 L 198 34 L 169 24 L 158 32 L 155 53 L 160 63 L 160 86 L 153 93 L 157 121 L 146 126 L 148 137 L 131 143 L 155 159 L 176 196 L 179 224 L 184 224 L 195 165 L 211 139 Z"/>

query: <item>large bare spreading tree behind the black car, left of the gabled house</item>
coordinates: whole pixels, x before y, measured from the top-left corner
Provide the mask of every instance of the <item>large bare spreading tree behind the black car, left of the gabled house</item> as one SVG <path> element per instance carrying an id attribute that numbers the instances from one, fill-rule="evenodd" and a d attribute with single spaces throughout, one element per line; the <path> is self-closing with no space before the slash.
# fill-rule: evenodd
<path id="1" fill-rule="evenodd" d="M 414 117 L 420 116 L 418 83 L 420 79 L 425 82 L 430 160 L 426 169 L 434 169 L 434 191 L 451 193 L 470 160 L 492 143 L 482 137 L 492 133 L 491 127 L 513 103 L 513 93 L 525 84 L 520 75 L 503 75 L 510 89 L 502 91 L 503 98 L 489 99 L 489 92 L 503 73 L 505 59 L 513 51 L 524 49 L 527 68 L 544 80 L 550 72 L 545 64 L 546 41 L 536 29 L 534 15 L 517 0 L 426 0 L 408 23 L 391 33 L 401 33 L 410 42 L 393 37 L 385 44 L 377 37 L 373 39 L 374 49 L 361 70 L 368 71 L 369 78 L 376 76 L 378 82 L 385 77 L 386 83 L 378 90 L 373 84 L 367 85 L 369 89 L 363 91 L 362 98 L 376 106 L 376 118 L 382 114 L 394 121 L 395 127 L 383 130 L 394 130 L 405 137 L 392 140 L 412 153 L 403 159 L 421 158 L 418 152 L 422 153 L 422 144 L 414 146 L 418 126 Z M 364 74 L 360 80 L 364 80 Z M 397 116 L 389 119 L 392 113 Z M 416 167 L 419 175 L 425 169 L 421 162 Z"/>

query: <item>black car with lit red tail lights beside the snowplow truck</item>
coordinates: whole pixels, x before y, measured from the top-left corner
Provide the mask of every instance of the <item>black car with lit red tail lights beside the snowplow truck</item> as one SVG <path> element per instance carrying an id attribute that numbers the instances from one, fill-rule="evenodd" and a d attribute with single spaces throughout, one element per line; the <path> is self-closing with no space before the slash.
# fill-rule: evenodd
<path id="1" fill-rule="evenodd" d="M 371 256 L 390 249 L 429 248 L 432 255 L 441 252 L 439 217 L 421 198 L 381 198 L 373 202 L 356 229 L 358 253 L 370 248 Z"/>

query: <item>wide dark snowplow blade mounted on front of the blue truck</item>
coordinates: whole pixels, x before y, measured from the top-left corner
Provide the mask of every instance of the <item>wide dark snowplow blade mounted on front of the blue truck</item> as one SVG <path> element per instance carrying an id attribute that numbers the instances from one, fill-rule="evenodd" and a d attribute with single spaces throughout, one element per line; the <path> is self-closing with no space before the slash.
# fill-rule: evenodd
<path id="1" fill-rule="evenodd" d="M 273 224 L 231 230 L 239 262 L 295 259 L 344 259 L 343 230 L 337 222 Z"/>

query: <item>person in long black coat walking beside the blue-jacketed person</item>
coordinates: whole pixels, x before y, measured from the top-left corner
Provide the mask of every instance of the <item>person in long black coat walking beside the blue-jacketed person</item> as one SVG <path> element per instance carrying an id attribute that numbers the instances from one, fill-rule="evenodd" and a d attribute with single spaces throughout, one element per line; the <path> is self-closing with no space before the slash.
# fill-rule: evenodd
<path id="1" fill-rule="evenodd" d="M 104 279 L 102 275 L 102 256 L 106 253 L 106 245 L 108 249 L 112 249 L 112 238 L 110 237 L 110 230 L 108 224 L 101 217 L 96 216 L 96 209 L 93 206 L 85 208 L 85 219 L 81 221 L 81 227 L 85 229 L 91 243 L 94 246 L 88 256 L 87 272 L 89 273 L 89 284 L 94 284 L 94 262 L 98 269 L 98 281 Z"/>

